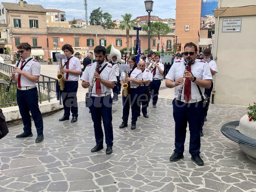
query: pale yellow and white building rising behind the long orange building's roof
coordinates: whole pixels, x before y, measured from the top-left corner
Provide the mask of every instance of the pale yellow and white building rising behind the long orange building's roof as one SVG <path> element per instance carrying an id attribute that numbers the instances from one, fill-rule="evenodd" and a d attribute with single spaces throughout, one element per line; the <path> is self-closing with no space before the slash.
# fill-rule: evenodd
<path id="1" fill-rule="evenodd" d="M 57 9 L 45 9 L 46 10 L 46 26 L 47 27 L 69 27 L 68 21 L 66 21 L 65 11 Z"/>

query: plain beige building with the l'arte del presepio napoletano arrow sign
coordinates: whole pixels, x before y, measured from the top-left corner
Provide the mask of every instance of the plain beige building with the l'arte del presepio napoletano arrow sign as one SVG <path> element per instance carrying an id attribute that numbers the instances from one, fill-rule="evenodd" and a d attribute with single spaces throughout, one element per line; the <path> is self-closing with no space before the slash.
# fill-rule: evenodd
<path id="1" fill-rule="evenodd" d="M 248 106 L 256 102 L 256 6 L 251 5 L 255 0 L 219 0 L 214 11 L 215 103 Z"/>

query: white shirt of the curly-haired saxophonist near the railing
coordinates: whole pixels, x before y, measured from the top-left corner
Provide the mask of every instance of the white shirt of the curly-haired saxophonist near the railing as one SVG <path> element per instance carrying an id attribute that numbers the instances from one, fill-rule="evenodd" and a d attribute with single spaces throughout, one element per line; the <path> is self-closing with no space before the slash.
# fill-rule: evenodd
<path id="1" fill-rule="evenodd" d="M 67 62 L 67 59 L 62 60 L 62 66 L 64 67 L 65 62 Z M 65 65 L 64 69 L 67 68 L 67 65 Z M 69 60 L 68 69 L 70 70 L 77 70 L 82 72 L 81 63 L 80 60 L 77 57 L 72 57 Z M 58 71 L 60 71 L 60 65 L 58 66 Z M 78 81 L 80 75 L 73 75 L 71 73 L 68 73 L 68 79 L 66 79 L 67 73 L 63 74 L 63 78 L 65 81 Z"/>

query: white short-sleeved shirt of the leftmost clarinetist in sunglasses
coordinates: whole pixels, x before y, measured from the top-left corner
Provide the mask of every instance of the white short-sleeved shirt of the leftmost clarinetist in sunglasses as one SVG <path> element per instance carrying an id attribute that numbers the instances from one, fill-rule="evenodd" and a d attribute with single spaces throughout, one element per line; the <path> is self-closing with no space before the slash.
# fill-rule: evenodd
<path id="1" fill-rule="evenodd" d="M 30 59 L 32 58 L 31 56 L 25 59 L 25 62 L 23 63 L 23 65 Z M 24 60 L 21 60 L 18 68 L 21 68 L 21 63 Z M 18 61 L 17 61 L 18 62 Z M 17 63 L 16 63 L 17 64 Z M 37 60 L 32 59 L 30 60 L 22 69 L 22 71 L 24 71 L 25 73 L 29 74 L 29 75 L 34 75 L 34 76 L 40 76 L 40 63 L 38 63 Z M 15 75 L 17 75 L 18 77 L 18 73 L 15 73 Z M 18 86 L 18 84 L 17 84 Z M 24 77 L 23 75 L 21 75 L 21 87 L 35 87 L 38 86 L 38 83 L 33 82 L 28 80 L 26 77 Z"/>

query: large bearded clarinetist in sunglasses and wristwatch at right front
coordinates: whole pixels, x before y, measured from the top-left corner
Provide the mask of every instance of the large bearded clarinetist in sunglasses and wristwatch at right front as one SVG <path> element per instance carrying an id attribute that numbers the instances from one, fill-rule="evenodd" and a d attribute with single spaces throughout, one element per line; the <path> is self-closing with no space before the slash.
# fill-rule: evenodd
<path id="1" fill-rule="evenodd" d="M 184 143 L 187 123 L 189 124 L 189 153 L 197 165 L 204 165 L 200 157 L 200 125 L 203 114 L 204 88 L 210 88 L 212 74 L 204 60 L 196 59 L 197 46 L 190 42 L 184 46 L 184 60 L 177 60 L 166 76 L 166 87 L 175 88 L 173 100 L 173 117 L 175 121 L 175 149 L 170 161 L 184 158 Z M 188 69 L 184 74 L 185 85 L 182 89 L 181 101 L 178 101 L 180 85 L 183 83 L 186 60 Z"/>

